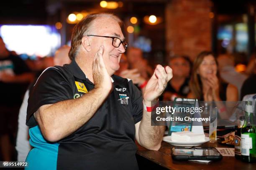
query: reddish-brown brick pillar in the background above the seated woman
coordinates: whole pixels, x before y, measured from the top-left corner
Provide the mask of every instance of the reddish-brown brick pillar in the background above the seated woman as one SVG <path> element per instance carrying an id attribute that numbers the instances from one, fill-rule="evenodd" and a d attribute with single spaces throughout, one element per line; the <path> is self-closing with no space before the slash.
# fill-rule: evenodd
<path id="1" fill-rule="evenodd" d="M 210 0 L 171 0 L 166 5 L 167 54 L 189 55 L 211 50 Z"/>

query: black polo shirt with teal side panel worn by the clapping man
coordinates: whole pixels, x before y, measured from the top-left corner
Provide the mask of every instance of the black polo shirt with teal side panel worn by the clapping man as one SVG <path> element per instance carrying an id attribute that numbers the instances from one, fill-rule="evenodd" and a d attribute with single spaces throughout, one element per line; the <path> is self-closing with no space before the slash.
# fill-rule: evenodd
<path id="1" fill-rule="evenodd" d="M 132 81 L 116 75 L 112 79 L 113 91 L 92 118 L 68 137 L 50 143 L 43 138 L 33 113 L 42 105 L 86 97 L 94 84 L 75 60 L 41 74 L 28 99 L 26 124 L 34 148 L 28 154 L 27 169 L 138 169 L 134 140 L 135 124 L 143 113 L 142 95 Z"/>

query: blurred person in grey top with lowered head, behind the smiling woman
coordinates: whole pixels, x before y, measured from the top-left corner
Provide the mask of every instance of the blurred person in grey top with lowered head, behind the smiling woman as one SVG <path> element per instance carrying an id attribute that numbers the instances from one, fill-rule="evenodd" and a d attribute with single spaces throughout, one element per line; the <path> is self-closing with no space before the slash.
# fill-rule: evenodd
<path id="1" fill-rule="evenodd" d="M 236 86 L 238 89 L 238 99 L 240 99 L 241 87 L 248 76 L 235 70 L 235 60 L 232 55 L 221 54 L 217 60 L 220 77 L 224 82 Z"/>

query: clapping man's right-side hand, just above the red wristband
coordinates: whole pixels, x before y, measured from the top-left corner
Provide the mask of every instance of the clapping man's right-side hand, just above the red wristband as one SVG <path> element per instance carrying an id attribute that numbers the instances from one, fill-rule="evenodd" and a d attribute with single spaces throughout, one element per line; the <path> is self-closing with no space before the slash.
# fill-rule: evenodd
<path id="1" fill-rule="evenodd" d="M 151 102 L 156 100 L 164 91 L 167 82 L 172 78 L 172 69 L 167 66 L 163 67 L 157 65 L 153 76 L 148 80 L 146 85 L 144 100 L 145 102 Z"/>

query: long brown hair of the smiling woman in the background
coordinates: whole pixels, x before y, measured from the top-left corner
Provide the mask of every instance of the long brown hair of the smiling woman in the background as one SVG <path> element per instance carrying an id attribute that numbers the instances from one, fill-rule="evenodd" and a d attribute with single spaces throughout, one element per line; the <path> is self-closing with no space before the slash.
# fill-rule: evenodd
<path id="1" fill-rule="evenodd" d="M 212 52 L 202 51 L 195 58 L 193 68 L 192 68 L 192 75 L 191 75 L 191 79 L 190 79 L 190 82 L 189 82 L 189 87 L 190 87 L 190 90 L 191 90 L 192 94 L 194 95 L 194 97 L 197 100 L 201 100 L 203 98 L 202 81 L 201 81 L 200 75 L 197 74 L 197 70 L 198 70 L 199 66 L 201 65 L 202 61 L 204 60 L 204 58 L 207 55 L 212 55 L 214 57 Z M 218 62 L 217 62 L 215 57 L 214 57 L 214 60 L 216 62 L 216 65 L 218 65 Z M 218 69 L 217 69 L 217 77 L 220 80 Z"/>

